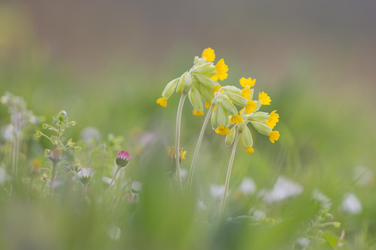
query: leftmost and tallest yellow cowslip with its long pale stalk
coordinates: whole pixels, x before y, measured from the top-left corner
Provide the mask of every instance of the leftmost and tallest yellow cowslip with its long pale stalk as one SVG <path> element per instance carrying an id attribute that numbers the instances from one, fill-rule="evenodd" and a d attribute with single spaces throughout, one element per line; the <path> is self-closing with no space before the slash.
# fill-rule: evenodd
<path id="1" fill-rule="evenodd" d="M 175 148 L 180 148 L 180 120 L 185 96 L 188 98 L 193 106 L 193 114 L 195 116 L 203 116 L 203 101 L 211 103 L 213 100 L 213 90 L 220 86 L 218 80 L 227 78 L 227 71 L 229 68 L 221 59 L 214 65 L 215 53 L 212 48 L 206 48 L 202 52 L 202 57 L 196 56 L 194 58 L 194 65 L 181 77 L 170 81 L 162 92 L 162 97 L 157 100 L 157 104 L 162 107 L 167 107 L 167 99 L 175 91 L 181 94 L 179 106 L 177 108 L 176 116 L 176 141 Z M 176 157 L 176 174 L 178 180 L 179 193 L 183 196 L 183 183 L 180 176 L 179 157 Z"/>

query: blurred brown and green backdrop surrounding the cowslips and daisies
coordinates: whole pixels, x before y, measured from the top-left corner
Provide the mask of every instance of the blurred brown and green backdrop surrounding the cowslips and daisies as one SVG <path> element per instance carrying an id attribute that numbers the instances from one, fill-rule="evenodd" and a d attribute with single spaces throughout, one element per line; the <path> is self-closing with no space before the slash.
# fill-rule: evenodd
<path id="1" fill-rule="evenodd" d="M 0 95 L 9 91 L 23 96 L 28 109 L 48 122 L 66 110 L 77 121 L 67 131 L 75 141 L 83 139 L 87 127 L 99 131 L 99 140 L 107 140 L 109 133 L 123 136 L 122 148 L 134 155 L 130 167 L 137 176 L 141 158 L 149 157 L 142 166 L 145 172 L 163 168 L 164 160 L 153 157 L 164 159 L 165 147 L 174 143 L 179 95 L 168 99 L 167 108 L 156 99 L 165 84 L 191 67 L 194 56 L 212 47 L 216 58 L 224 58 L 229 66 L 223 85 L 240 87 L 239 78 L 256 78 L 255 91 L 265 91 L 272 99 L 262 111 L 277 109 L 280 114 L 276 129 L 281 137 L 276 143 L 256 131 L 254 154 L 247 155 L 239 143 L 226 205 L 227 216 L 258 215 L 262 221 L 273 217 L 280 223 L 269 231 L 240 231 L 226 244 L 291 249 L 302 221 L 309 223 L 317 213 L 320 206 L 312 196 L 320 193 L 341 223 L 334 235 L 346 232 L 343 247 L 376 249 L 375 13 L 376 2 L 349 0 L 2 1 Z M 184 170 L 189 171 L 202 122 L 203 117 L 192 115 L 187 101 L 180 138 L 187 151 Z M 8 123 L 9 114 L 1 105 L 0 125 Z M 44 140 L 38 145 L 49 147 Z M 43 152 L 31 151 L 24 152 L 30 161 L 43 159 Z M 196 199 L 207 210 L 216 211 L 216 185 L 224 184 L 230 151 L 224 137 L 208 127 L 194 177 Z M 251 178 L 251 184 L 242 186 L 244 178 Z M 51 249 L 56 242 L 62 249 L 127 244 L 174 249 L 176 242 L 187 249 L 226 248 L 221 244 L 225 229 L 203 229 L 205 233 L 198 235 L 197 225 L 190 224 L 214 223 L 215 213 L 194 214 L 188 209 L 182 222 L 188 226 L 179 234 L 170 227 L 176 227 L 171 221 L 180 215 L 169 206 L 156 205 L 168 202 L 166 195 L 150 187 L 145 192 L 160 195 L 159 201 L 149 199 L 141 208 L 143 218 L 133 218 L 145 228 L 138 224 L 129 229 L 111 218 L 122 229 L 117 241 L 98 236 L 107 222 L 96 211 L 81 214 L 77 228 L 69 223 L 77 218 L 63 209 L 67 214 L 62 212 L 55 221 L 61 224 L 46 228 L 38 209 L 22 201 L 11 209 L 2 198 L 0 243 L 8 249 Z M 158 223 L 161 226 L 155 226 Z M 148 245 L 143 237 L 150 235 L 154 238 Z M 127 243 L 130 238 L 132 243 Z M 173 243 L 168 245 L 168 240 Z M 14 243 L 20 241 L 25 243 Z M 29 242 L 33 244 L 27 248 Z"/>

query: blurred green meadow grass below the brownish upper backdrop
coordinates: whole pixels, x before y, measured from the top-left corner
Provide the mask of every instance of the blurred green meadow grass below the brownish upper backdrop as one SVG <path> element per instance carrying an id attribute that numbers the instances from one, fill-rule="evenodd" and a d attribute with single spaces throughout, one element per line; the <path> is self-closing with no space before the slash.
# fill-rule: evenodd
<path id="1" fill-rule="evenodd" d="M 1 25 L 6 28 L 5 22 Z M 10 202 L 11 144 L 2 137 L 0 146 L 6 154 L 0 172 L 0 248 L 291 249 L 315 220 L 321 206 L 314 195 L 318 192 L 326 196 L 321 202 L 330 204 L 333 221 L 341 223 L 340 228 L 324 231 L 340 236 L 344 230 L 344 249 L 376 248 L 376 120 L 371 101 L 367 101 L 370 94 L 366 88 L 359 89 L 362 85 L 334 89 L 317 84 L 312 81 L 315 72 L 308 62 L 307 66 L 299 62 L 278 83 L 258 79 L 255 91 L 267 92 L 272 99 L 270 111 L 277 109 L 280 114 L 277 129 L 281 137 L 271 144 L 252 131 L 255 153 L 251 155 L 239 143 L 225 217 L 257 215 L 262 225 L 219 225 L 216 185 L 224 184 L 231 149 L 224 145 L 224 137 L 208 127 L 196 164 L 194 196 L 184 201 L 171 196 L 165 149 L 174 143 L 179 96 L 171 96 L 167 108 L 155 103 L 165 83 L 188 69 L 202 48 L 193 54 L 183 53 L 181 48 L 170 55 L 176 63 L 158 70 L 117 61 L 91 77 L 79 78 L 69 67 L 41 53 L 29 35 L 4 30 L 8 33 L 2 35 L 0 44 L 0 94 L 9 91 L 23 96 L 28 109 L 45 122 L 67 110 L 77 125 L 65 136 L 83 147 L 77 157 L 82 167 L 92 167 L 96 173 L 85 202 L 80 199 L 79 183 L 63 185 L 52 202 L 39 192 L 43 182 L 39 177 L 30 188 L 33 162 L 44 166 L 44 149 L 52 148 L 47 140 L 33 138 L 35 130 L 41 130 L 41 125 L 36 125 L 25 131 L 15 199 Z M 17 39 L 21 43 L 14 53 L 9 50 L 14 46 L 12 36 L 19 34 L 25 37 Z M 229 68 L 229 78 L 223 84 L 238 86 L 240 77 L 253 77 L 240 75 L 243 69 L 230 63 Z M 9 119 L 6 107 L 0 106 L 0 125 L 8 124 Z M 189 171 L 202 122 L 203 117 L 192 115 L 187 101 L 180 138 L 187 150 L 184 170 Z M 96 145 L 108 146 L 106 155 L 98 155 L 96 148 L 83 140 L 86 127 L 100 132 Z M 110 133 L 123 136 L 120 148 L 108 144 Z M 102 176 L 111 177 L 119 149 L 133 155 L 130 176 L 144 183 L 143 190 L 139 202 L 129 204 L 123 200 L 121 185 L 115 185 L 113 202 L 99 211 Z M 121 178 L 124 175 L 118 183 Z M 244 178 L 252 178 L 255 184 L 248 185 L 246 191 L 241 185 Z M 282 185 L 276 185 L 281 180 Z M 267 218 L 276 222 L 267 222 Z M 296 243 L 295 247 L 304 248 Z M 331 248 L 327 242 L 310 247 Z"/>

